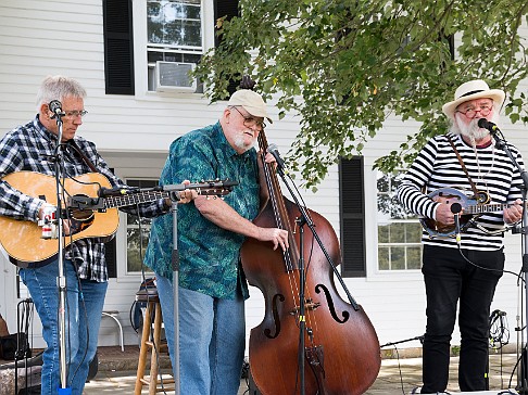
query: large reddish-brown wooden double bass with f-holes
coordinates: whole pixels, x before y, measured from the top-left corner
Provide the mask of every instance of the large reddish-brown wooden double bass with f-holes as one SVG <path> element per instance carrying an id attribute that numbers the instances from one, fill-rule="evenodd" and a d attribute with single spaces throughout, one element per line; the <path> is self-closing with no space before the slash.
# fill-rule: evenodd
<path id="1" fill-rule="evenodd" d="M 261 290 L 265 301 L 264 318 L 250 333 L 252 379 L 263 395 L 363 394 L 378 375 L 380 348 L 361 305 L 343 301 L 336 290 L 328 257 L 341 263 L 337 235 L 328 220 L 305 208 L 317 235 L 303 232 L 301 242 L 301 212 L 281 194 L 274 164 L 264 162 L 268 148 L 264 130 L 259 146 L 269 200 L 254 224 L 288 230 L 289 249 L 274 251 L 271 242 L 252 238 L 241 249 L 248 282 Z"/>

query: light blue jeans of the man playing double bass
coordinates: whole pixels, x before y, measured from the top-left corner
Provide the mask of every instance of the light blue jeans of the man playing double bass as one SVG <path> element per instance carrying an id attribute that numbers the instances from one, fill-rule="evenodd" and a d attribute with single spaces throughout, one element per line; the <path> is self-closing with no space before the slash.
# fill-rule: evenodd
<path id="1" fill-rule="evenodd" d="M 165 334 L 174 364 L 174 291 L 156 277 Z M 236 395 L 246 349 L 244 302 L 178 289 L 179 386 L 181 394 Z"/>

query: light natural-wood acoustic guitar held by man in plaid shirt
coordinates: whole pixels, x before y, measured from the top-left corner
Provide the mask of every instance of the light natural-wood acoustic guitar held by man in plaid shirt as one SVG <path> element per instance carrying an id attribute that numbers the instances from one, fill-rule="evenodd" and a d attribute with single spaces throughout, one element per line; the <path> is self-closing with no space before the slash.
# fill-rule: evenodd
<path id="1" fill-rule="evenodd" d="M 39 197 L 56 205 L 56 183 L 52 176 L 35 171 L 16 171 L 5 176 L 3 181 L 33 197 Z M 203 181 L 185 186 L 198 194 L 224 196 L 238 182 L 229 180 Z M 64 246 L 79 239 L 111 237 L 117 231 L 120 217 L 117 207 L 138 203 L 153 202 L 169 197 L 164 190 L 114 190 L 110 181 L 99 173 L 66 178 L 63 193 L 71 218 L 71 234 L 64 238 Z M 100 191 L 111 191 L 105 197 L 99 197 Z M 42 239 L 41 228 L 33 221 L 18 220 L 0 216 L 0 243 L 12 258 L 22 267 L 39 267 L 47 265 L 59 251 L 58 239 Z M 39 264 L 41 263 L 41 264 Z"/>

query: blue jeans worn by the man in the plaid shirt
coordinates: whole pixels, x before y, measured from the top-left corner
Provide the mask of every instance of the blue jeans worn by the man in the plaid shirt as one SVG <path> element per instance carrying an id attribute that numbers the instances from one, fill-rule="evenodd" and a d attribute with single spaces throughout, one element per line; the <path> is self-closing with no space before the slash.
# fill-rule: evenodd
<path id="1" fill-rule="evenodd" d="M 90 361 L 97 352 L 99 324 L 106 294 L 106 282 L 77 281 L 70 260 L 64 262 L 66 279 L 66 367 L 67 388 L 81 395 Z M 58 394 L 61 387 L 60 328 L 59 328 L 59 264 L 52 262 L 40 268 L 21 269 L 22 281 L 29 290 L 35 308 L 42 322 L 47 348 L 42 355 L 41 393 Z"/>

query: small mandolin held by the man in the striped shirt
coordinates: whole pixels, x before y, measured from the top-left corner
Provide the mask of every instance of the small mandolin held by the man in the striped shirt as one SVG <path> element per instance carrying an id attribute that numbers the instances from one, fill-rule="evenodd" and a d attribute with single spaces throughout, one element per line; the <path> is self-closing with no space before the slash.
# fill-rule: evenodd
<path id="1" fill-rule="evenodd" d="M 489 195 L 483 191 L 479 191 L 478 195 L 467 196 L 464 192 L 461 192 L 455 188 L 440 188 L 429 193 L 428 196 L 437 202 L 447 203 L 449 205 L 461 205 L 461 233 L 465 232 L 482 214 L 500 212 L 511 206 L 511 204 L 506 203 L 489 204 Z M 447 225 L 425 217 L 419 218 L 419 222 L 430 238 L 456 237 L 455 225 Z"/>

